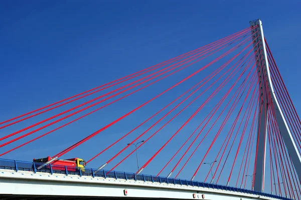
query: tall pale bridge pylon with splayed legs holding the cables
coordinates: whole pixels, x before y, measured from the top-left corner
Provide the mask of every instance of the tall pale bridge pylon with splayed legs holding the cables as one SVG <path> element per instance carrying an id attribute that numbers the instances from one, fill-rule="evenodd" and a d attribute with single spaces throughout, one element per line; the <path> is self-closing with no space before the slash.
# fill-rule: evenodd
<path id="1" fill-rule="evenodd" d="M 265 42 L 264 42 L 262 23 L 259 19 L 250 22 L 251 27 L 256 26 L 256 25 L 258 25 L 258 27 L 255 28 L 254 30 L 252 30 L 252 32 L 254 31 L 253 33 L 255 33 L 256 31 L 258 31 L 254 36 L 257 37 L 259 35 L 259 37 L 256 39 L 254 45 L 257 42 L 259 42 L 259 43 L 258 43 L 257 47 L 254 47 L 254 51 L 256 52 L 256 50 L 258 50 L 258 47 L 261 45 L 259 51 L 257 51 L 257 54 L 259 54 L 259 52 L 262 50 L 261 51 L 262 57 L 260 57 L 260 55 L 255 55 L 255 56 L 256 56 L 256 60 L 259 60 L 259 62 L 260 62 L 261 58 L 263 58 L 263 69 L 260 70 L 260 72 L 258 72 L 258 79 L 259 79 L 259 82 L 262 80 L 265 80 L 265 82 L 261 85 L 262 88 L 260 88 L 260 95 L 264 95 L 264 96 L 262 96 L 263 102 L 261 102 L 261 103 L 263 103 L 263 108 L 262 108 L 262 112 L 259 113 L 259 115 L 261 115 L 261 119 L 259 119 L 260 117 L 258 116 L 258 124 L 261 121 L 261 124 L 263 123 L 263 125 L 260 125 L 260 127 L 258 126 L 259 131 L 257 133 L 258 143 L 257 143 L 257 151 L 256 151 L 257 162 L 255 165 L 256 168 L 255 168 L 253 184 L 254 184 L 255 191 L 263 192 L 263 190 L 264 190 L 264 171 L 265 171 L 266 133 L 267 133 L 266 124 L 267 124 L 268 112 L 275 113 L 276 123 L 280 130 L 280 134 L 283 138 L 283 141 L 288 150 L 288 153 L 291 157 L 294 168 L 296 169 L 296 172 L 298 174 L 299 181 L 301 181 L 301 156 L 298 152 L 298 149 L 297 149 L 294 139 L 291 135 L 289 127 L 286 123 L 283 112 L 280 108 L 280 105 L 278 103 L 278 100 L 276 98 L 276 95 L 275 95 L 275 92 L 274 92 L 274 89 L 272 86 L 269 65 L 268 65 L 268 60 L 267 60 L 267 54 L 266 54 L 266 48 L 265 48 Z M 257 63 L 257 66 L 258 65 L 259 65 L 259 63 Z M 266 91 L 266 89 L 268 91 Z M 274 107 L 273 111 L 268 110 L 268 109 L 265 109 L 266 111 L 263 110 L 265 108 L 265 106 L 267 106 L 267 102 L 268 102 L 267 95 L 271 96 L 271 102 Z M 262 121 L 262 118 L 264 118 L 263 121 Z"/>

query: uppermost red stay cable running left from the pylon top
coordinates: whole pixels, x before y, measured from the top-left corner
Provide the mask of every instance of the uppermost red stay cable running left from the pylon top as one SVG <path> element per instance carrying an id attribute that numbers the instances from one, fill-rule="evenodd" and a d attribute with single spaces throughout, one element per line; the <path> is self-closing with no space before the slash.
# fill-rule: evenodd
<path id="1" fill-rule="evenodd" d="M 242 33 L 246 33 L 246 32 L 249 31 L 249 30 L 250 30 L 250 28 L 244 29 L 244 30 L 239 31 L 239 32 L 237 32 L 237 33 L 234 33 L 234 34 L 232 34 L 232 35 L 230 35 L 230 36 L 227 36 L 227 37 L 225 37 L 225 38 L 223 38 L 223 39 L 220 39 L 220 40 L 218 40 L 218 41 L 215 41 L 215 42 L 213 42 L 213 43 L 210 43 L 210 44 L 208 44 L 208 45 L 206 45 L 206 46 L 210 46 L 210 45 L 212 45 L 212 44 L 214 44 L 214 43 L 216 43 L 216 42 L 222 41 L 222 40 L 224 40 L 224 39 L 226 39 L 226 38 L 228 38 L 228 37 L 230 38 L 230 37 L 234 37 L 234 36 L 237 36 L 237 35 L 239 35 L 239 34 L 242 34 Z M 190 53 L 192 53 L 192 52 L 195 52 L 195 51 L 197 51 L 197 50 L 200 50 L 200 49 L 202 49 L 202 48 L 205 48 L 206 46 L 200 47 L 200 48 L 195 49 L 195 50 L 193 50 L 193 51 L 190 51 L 190 52 L 188 52 L 188 53 L 182 54 L 182 55 L 180 55 L 180 56 L 177 56 L 177 57 L 172 58 L 172 59 L 170 59 L 170 60 L 164 61 L 164 62 L 159 63 L 159 64 L 157 64 L 157 65 L 154 65 L 154 66 L 152 66 L 152 67 L 148 67 L 148 68 L 146 68 L 146 69 L 143 69 L 143 70 L 140 70 L 140 71 L 138 71 L 138 72 L 132 73 L 132 74 L 127 75 L 127 76 L 125 76 L 125 77 L 122 77 L 122 78 L 119 78 L 119 79 L 117 79 L 117 80 L 114 80 L 114 81 L 111 81 L 111 82 L 109 82 L 109 83 L 106 83 L 106 84 L 104 84 L 104 85 L 98 86 L 98 87 L 96 87 L 96 88 L 87 90 L 87 91 L 85 91 L 85 92 L 82 92 L 82 93 L 80 93 L 80 94 L 74 95 L 74 96 L 72 96 L 72 97 L 69 97 L 69 98 L 63 99 L 63 100 L 61 100 L 61 101 L 55 102 L 55 103 L 53 103 L 53 104 L 44 106 L 44 107 L 39 108 L 39 109 L 36 109 L 36 110 L 34 110 L 34 111 L 31 111 L 31 112 L 22 114 L 22 115 L 20 115 L 20 116 L 14 117 L 14 118 L 12 118 L 12 119 L 9 119 L 9 120 L 0 122 L 0 124 L 4 124 L 4 123 L 7 123 L 7 122 L 10 122 L 10 121 L 15 120 L 15 119 L 18 119 L 18 118 L 20 118 L 20 117 L 29 115 L 29 114 L 34 113 L 34 112 L 37 112 L 37 111 L 39 111 L 39 110 L 43 110 L 43 109 L 45 109 L 45 108 L 48 108 L 48 107 L 51 107 L 51 106 L 53 106 L 53 105 L 59 104 L 59 103 L 61 103 L 61 102 L 67 101 L 67 100 L 69 100 L 69 99 L 72 99 L 72 98 L 74 98 L 74 97 L 77 97 L 77 96 L 80 96 L 80 95 L 82 95 L 82 94 L 88 93 L 88 92 L 90 92 L 90 91 L 96 90 L 96 89 L 101 88 L 101 87 L 103 87 L 103 86 L 112 84 L 112 83 L 114 83 L 114 82 L 120 81 L 120 80 L 125 79 L 125 78 L 127 78 L 127 77 L 130 77 L 130 76 L 133 76 L 133 75 L 135 75 L 135 74 L 141 73 L 141 72 L 146 71 L 146 70 L 148 70 L 148 69 L 152 69 L 152 68 L 154 68 L 154 67 L 156 67 L 156 66 L 158 66 L 158 65 L 162 65 L 162 64 L 164 64 L 164 63 L 173 61 L 173 60 L 175 60 L 175 59 L 177 59 L 177 58 L 181 58 L 181 57 L 183 57 L 183 56 L 185 56 L 185 55 L 187 55 L 187 54 L 190 54 Z M 186 56 L 185 56 L 185 57 L 186 57 Z"/>

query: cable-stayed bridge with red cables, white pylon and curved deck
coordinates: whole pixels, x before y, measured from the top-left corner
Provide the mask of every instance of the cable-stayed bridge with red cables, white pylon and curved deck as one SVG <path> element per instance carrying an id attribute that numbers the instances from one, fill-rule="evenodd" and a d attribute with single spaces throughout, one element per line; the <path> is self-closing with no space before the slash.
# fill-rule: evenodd
<path id="1" fill-rule="evenodd" d="M 300 199 L 301 121 L 275 60 L 262 23 L 255 20 L 239 32 L 168 61 L 4 120 L 0 195 L 4 199 Z M 89 100 L 93 95 L 98 96 Z M 127 99 L 143 103 L 122 110 Z M 150 104 L 153 107 L 145 109 Z M 100 129 L 55 155 L 33 161 L 10 157 L 97 111 L 109 113 L 108 109 L 122 112 L 115 119 L 107 116 Z M 138 125 L 131 127 L 135 114 Z M 72 153 L 120 124 L 130 130 L 115 141 L 97 137 L 103 149 L 89 160 Z M 162 134 L 165 127 L 173 134 Z M 116 145 L 128 138 L 132 141 L 127 145 Z M 132 145 L 135 148 L 127 153 Z M 138 149 L 143 146 L 147 149 L 139 155 L 145 162 L 139 167 Z M 66 154 L 75 158 L 66 159 Z M 136 171 L 116 171 L 134 156 Z M 98 166 L 88 167 L 90 162 Z M 147 170 L 152 175 L 144 174 Z M 184 172 L 191 176 L 179 178 Z"/>

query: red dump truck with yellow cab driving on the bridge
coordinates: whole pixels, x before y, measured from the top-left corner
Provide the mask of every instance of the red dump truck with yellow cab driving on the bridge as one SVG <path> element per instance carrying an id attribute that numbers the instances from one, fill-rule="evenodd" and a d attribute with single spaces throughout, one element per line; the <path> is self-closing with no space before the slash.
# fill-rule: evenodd
<path id="1" fill-rule="evenodd" d="M 34 158 L 34 162 L 37 163 L 48 163 L 52 157 L 47 156 L 45 158 Z M 52 170 L 62 170 L 65 171 L 85 171 L 86 162 L 81 158 L 70 158 L 70 159 L 56 159 L 51 162 Z M 50 168 L 49 164 L 45 165 L 46 168 Z"/>

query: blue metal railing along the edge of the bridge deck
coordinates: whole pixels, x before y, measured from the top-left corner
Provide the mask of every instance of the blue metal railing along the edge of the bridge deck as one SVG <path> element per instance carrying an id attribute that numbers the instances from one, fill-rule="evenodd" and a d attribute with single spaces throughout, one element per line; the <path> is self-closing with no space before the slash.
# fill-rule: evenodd
<path id="1" fill-rule="evenodd" d="M 131 179 L 131 180 L 142 180 L 142 181 L 151 181 L 151 182 L 160 182 L 167 184 L 180 184 L 180 185 L 191 185 L 198 187 L 207 187 L 207 188 L 215 188 L 222 189 L 227 191 L 237 191 L 247 194 L 255 194 L 258 196 L 267 196 L 276 199 L 284 199 L 289 200 L 289 198 L 277 196 L 269 193 L 263 193 L 258 191 L 253 191 L 249 189 L 242 189 L 237 187 L 230 187 L 226 185 L 220 184 L 211 184 L 207 182 L 199 182 L 195 180 L 185 180 L 179 178 L 170 178 L 164 176 L 153 176 L 153 175 L 145 175 L 145 174 L 135 174 L 121 171 L 108 171 L 108 170 L 98 170 L 93 168 L 84 168 L 79 169 L 78 167 L 70 167 L 64 165 L 54 165 L 54 164 L 43 164 L 36 162 L 27 162 L 27 161 L 18 161 L 18 160 L 7 160 L 0 159 L 0 169 L 13 169 L 13 170 L 22 170 L 22 171 L 33 171 L 34 173 L 38 172 L 47 172 L 47 173 L 62 173 L 62 174 L 76 174 L 76 175 L 85 175 L 92 177 L 103 177 L 103 178 L 116 178 L 116 179 Z"/>

